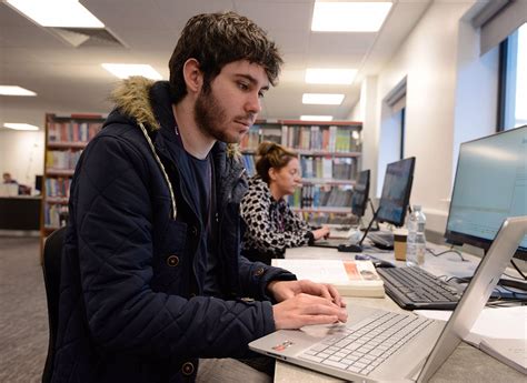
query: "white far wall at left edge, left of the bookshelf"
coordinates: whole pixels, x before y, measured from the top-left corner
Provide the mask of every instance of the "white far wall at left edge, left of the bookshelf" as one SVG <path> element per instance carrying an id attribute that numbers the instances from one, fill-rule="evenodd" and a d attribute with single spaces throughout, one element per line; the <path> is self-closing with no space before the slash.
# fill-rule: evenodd
<path id="1" fill-rule="evenodd" d="M 43 131 L 0 129 L 0 172 L 32 188 L 34 175 L 43 174 Z"/>

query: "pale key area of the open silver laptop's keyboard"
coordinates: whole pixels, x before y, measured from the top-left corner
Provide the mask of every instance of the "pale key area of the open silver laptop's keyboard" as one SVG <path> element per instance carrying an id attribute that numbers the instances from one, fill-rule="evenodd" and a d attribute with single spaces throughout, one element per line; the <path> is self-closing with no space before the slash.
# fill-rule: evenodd
<path id="1" fill-rule="evenodd" d="M 356 325 L 339 327 L 299 357 L 368 375 L 431 323 L 416 315 L 379 312 Z"/>

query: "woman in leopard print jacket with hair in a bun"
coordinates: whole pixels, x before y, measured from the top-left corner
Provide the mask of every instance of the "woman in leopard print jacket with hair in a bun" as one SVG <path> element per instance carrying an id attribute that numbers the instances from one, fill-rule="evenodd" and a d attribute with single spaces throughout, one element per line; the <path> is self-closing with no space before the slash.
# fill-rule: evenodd
<path id="1" fill-rule="evenodd" d="M 329 230 L 311 231 L 284 199 L 300 185 L 298 154 L 277 143 L 262 142 L 256 155 L 257 174 L 249 180 L 240 205 L 246 223 L 242 253 L 251 261 L 269 264 L 271 258 L 284 258 L 287 248 L 307 245 Z"/>

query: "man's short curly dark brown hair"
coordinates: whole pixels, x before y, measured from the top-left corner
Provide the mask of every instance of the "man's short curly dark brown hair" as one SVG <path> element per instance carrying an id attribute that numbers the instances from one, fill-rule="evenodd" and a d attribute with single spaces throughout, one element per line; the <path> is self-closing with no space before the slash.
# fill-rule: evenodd
<path id="1" fill-rule="evenodd" d="M 173 102 L 187 94 L 182 69 L 188 59 L 199 62 L 206 90 L 230 62 L 248 60 L 264 67 L 274 85 L 284 63 L 278 48 L 267 33 L 251 20 L 235 12 L 202 13 L 187 21 L 169 61 Z"/>

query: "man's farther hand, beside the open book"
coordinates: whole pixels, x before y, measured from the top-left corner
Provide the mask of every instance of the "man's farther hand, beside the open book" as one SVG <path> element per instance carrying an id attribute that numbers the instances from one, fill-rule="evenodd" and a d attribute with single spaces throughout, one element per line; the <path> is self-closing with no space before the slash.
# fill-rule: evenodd
<path id="1" fill-rule="evenodd" d="M 277 302 L 285 301 L 298 294 L 306 293 L 327 299 L 328 301 L 345 308 L 346 303 L 342 298 L 330 284 L 315 283 L 312 281 L 272 281 L 267 285 L 267 290 L 275 296 Z"/>

